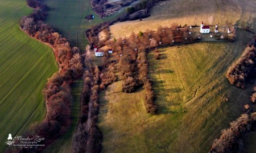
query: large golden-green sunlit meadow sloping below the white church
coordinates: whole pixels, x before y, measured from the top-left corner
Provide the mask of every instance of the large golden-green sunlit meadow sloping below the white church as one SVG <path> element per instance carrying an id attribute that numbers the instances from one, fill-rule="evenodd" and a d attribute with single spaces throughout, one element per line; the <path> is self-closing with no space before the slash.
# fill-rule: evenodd
<path id="1" fill-rule="evenodd" d="M 242 90 L 225 78 L 252 36 L 238 35 L 243 39 L 235 43 L 163 48 L 158 61 L 148 55 L 159 115 L 145 113 L 143 93 L 122 93 L 120 82 L 110 85 L 100 103 L 103 152 L 208 152 L 249 102 L 253 84 Z"/>

